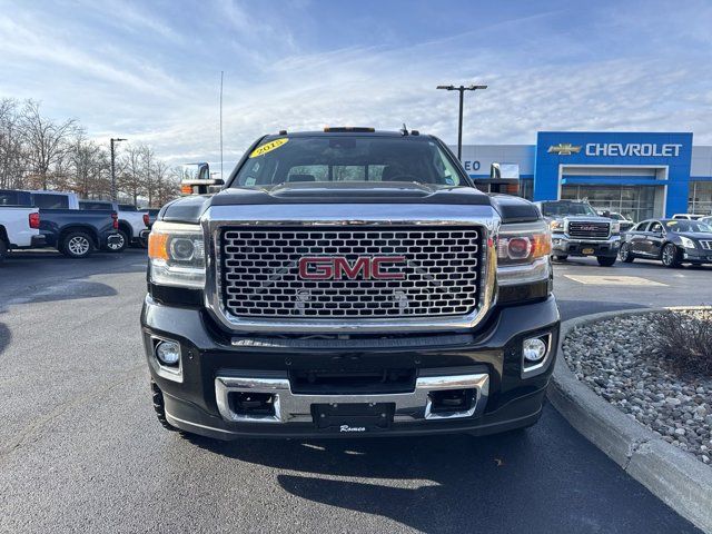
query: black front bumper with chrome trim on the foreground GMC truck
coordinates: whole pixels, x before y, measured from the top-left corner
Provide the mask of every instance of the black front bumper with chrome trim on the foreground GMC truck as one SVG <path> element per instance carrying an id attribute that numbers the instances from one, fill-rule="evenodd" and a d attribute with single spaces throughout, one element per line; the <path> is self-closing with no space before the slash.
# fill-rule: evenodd
<path id="1" fill-rule="evenodd" d="M 308 347 L 304 340 L 290 344 L 284 337 L 235 338 L 202 308 L 164 306 L 150 297 L 141 324 L 151 377 L 164 393 L 168 422 L 221 439 L 492 434 L 528 426 L 541 414 L 558 338 L 553 297 L 495 309 L 479 334 L 379 337 L 373 343 L 362 338 L 350 348 L 349 342 L 334 347 L 315 342 Z M 523 370 L 521 347 L 526 337 L 546 338 L 550 350 L 542 363 Z M 156 344 L 166 339 L 180 344 L 179 375 L 166 373 L 154 355 Z M 294 382 L 296 374 L 309 369 L 338 374 L 373 368 L 411 370 L 413 387 L 304 392 Z M 445 390 L 472 392 L 472 396 L 462 409 L 438 412 L 434 395 Z M 241 412 L 231 395 L 245 393 L 271 396 L 273 409 Z M 367 413 L 353 418 L 329 415 L 329 411 L 338 413 L 339 406 L 364 406 Z M 387 421 L 369 424 L 369 406 L 376 412 L 373 415 Z M 326 421 L 334 424 L 322 424 L 319 416 L 325 418 L 325 412 Z"/>

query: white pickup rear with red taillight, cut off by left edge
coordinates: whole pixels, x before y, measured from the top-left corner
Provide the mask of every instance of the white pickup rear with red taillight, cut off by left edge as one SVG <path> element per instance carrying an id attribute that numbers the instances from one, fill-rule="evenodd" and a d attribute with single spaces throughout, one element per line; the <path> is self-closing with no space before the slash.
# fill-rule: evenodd
<path id="1" fill-rule="evenodd" d="M 40 214 L 34 207 L 23 207 L 29 192 L 0 189 L 0 261 L 8 250 L 41 247 L 44 236 L 40 235 Z"/>

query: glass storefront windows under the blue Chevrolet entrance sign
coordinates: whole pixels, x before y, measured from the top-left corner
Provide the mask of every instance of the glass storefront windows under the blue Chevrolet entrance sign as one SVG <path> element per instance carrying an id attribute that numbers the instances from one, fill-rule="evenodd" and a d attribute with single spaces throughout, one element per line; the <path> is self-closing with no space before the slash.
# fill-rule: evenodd
<path id="1" fill-rule="evenodd" d="M 655 188 L 650 186 L 565 185 L 561 198 L 587 200 L 599 211 L 615 211 L 635 221 L 655 216 Z"/>

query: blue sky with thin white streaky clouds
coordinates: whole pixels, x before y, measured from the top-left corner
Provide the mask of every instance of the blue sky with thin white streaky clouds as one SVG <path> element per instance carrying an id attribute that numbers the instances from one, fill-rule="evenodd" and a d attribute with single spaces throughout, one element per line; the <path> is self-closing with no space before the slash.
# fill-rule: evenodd
<path id="1" fill-rule="evenodd" d="M 0 97 L 89 137 L 226 174 L 264 134 L 408 128 L 464 144 L 538 130 L 692 131 L 712 145 L 712 1 L 8 1 Z"/>

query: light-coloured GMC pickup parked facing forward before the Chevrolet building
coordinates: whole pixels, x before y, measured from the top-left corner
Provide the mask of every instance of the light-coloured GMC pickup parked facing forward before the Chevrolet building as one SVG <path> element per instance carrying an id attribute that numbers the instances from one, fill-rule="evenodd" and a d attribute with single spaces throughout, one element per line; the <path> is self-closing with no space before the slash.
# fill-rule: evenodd
<path id="1" fill-rule="evenodd" d="M 621 244 L 617 220 L 601 217 L 589 202 L 581 200 L 547 200 L 535 202 L 550 221 L 554 258 L 595 256 L 599 265 L 615 264 Z"/>

